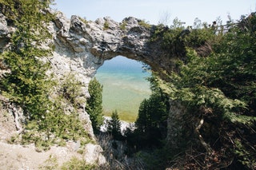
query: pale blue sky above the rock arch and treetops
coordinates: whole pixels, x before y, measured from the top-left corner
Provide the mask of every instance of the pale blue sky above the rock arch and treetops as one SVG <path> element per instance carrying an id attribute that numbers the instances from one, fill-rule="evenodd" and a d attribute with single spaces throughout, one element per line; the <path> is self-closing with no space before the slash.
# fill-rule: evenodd
<path id="1" fill-rule="evenodd" d="M 226 23 L 228 14 L 237 20 L 241 14 L 256 9 L 255 0 L 55 0 L 55 3 L 53 8 L 61 10 L 67 18 L 75 14 L 95 21 L 108 16 L 122 22 L 132 16 L 158 24 L 169 16 L 169 25 L 177 17 L 186 26 L 192 26 L 195 18 L 210 24 L 220 17 Z"/>

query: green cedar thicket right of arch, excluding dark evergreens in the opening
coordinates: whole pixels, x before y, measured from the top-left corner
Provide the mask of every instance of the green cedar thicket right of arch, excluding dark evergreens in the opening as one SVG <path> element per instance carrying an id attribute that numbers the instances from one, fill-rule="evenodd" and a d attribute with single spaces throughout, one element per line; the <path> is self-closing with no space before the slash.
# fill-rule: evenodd
<path id="1" fill-rule="evenodd" d="M 250 14 L 238 24 L 229 21 L 226 29 L 174 26 L 156 32 L 163 34 L 162 48 L 180 58 L 163 86 L 190 117 L 181 122 L 183 135 L 175 139 L 186 148 L 181 166 L 256 168 L 255 26 L 256 16 Z M 181 152 L 170 151 L 173 156 Z"/>

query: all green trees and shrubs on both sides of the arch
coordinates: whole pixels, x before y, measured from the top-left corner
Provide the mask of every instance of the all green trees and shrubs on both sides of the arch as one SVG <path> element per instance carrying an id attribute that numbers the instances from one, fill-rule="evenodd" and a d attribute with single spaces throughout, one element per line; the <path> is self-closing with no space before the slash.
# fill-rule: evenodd
<path id="1" fill-rule="evenodd" d="M 53 17 L 46 11 L 51 2 L 0 1 L 2 13 L 16 29 L 10 38 L 10 50 L 0 57 L 1 65 L 10 69 L 0 80 L 1 93 L 24 111 L 20 142 L 35 143 L 40 150 L 49 149 L 51 144 L 65 144 L 65 140 L 80 140 L 82 144 L 90 140 L 84 122 L 78 119 L 78 109 L 85 103 L 78 100 L 81 84 L 74 75 L 67 75 L 60 84 L 52 81 L 46 75 L 50 64 L 42 61 L 51 54 L 51 49 L 44 47 L 51 38 L 46 29 Z M 159 73 L 164 82 L 157 81 L 156 76 L 150 78 L 154 93 L 142 101 L 136 128 L 128 128 L 121 137 L 118 114 L 113 113 L 109 132 L 130 145 L 127 155 L 150 160 L 145 161 L 149 163 L 144 166 L 147 169 L 255 169 L 255 14 L 242 17 L 238 23 L 230 20 L 225 27 L 216 23 L 208 26 L 198 19 L 187 29 L 181 23 L 175 19 L 170 28 L 155 27 L 150 41 L 161 42 L 162 49 L 169 53 L 166 60 L 174 60 L 174 65 L 166 74 Z M 107 29 L 108 24 L 104 25 Z M 139 25 L 149 27 L 143 22 Z M 94 129 L 99 129 L 102 85 L 92 80 L 89 92 L 86 110 Z M 58 97 L 53 95 L 56 93 Z M 167 133 L 168 117 L 175 112 L 169 101 L 184 108 L 180 119 L 169 120 L 178 124 L 174 134 Z"/>

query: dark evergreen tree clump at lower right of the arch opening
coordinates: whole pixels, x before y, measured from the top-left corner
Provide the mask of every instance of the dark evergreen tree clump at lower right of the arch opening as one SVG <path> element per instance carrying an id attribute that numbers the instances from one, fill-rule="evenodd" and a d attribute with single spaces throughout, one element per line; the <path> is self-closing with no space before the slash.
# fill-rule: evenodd
<path id="1" fill-rule="evenodd" d="M 158 94 L 152 94 L 149 99 L 142 101 L 134 130 L 138 137 L 135 143 L 139 148 L 161 146 L 161 140 L 166 137 L 166 119 L 169 111 L 166 109 L 166 102 Z"/>

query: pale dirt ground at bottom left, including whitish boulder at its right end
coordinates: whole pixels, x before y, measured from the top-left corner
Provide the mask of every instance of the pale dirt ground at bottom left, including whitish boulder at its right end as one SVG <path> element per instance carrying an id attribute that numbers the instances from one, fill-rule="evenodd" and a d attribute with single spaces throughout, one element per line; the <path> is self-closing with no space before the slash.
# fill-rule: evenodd
<path id="1" fill-rule="evenodd" d="M 78 152 L 74 141 L 67 141 L 65 147 L 52 146 L 46 152 L 37 152 L 34 144 L 9 144 L 17 132 L 14 116 L 0 102 L 0 170 L 59 169 L 74 157 L 89 164 L 106 161 L 102 148 L 95 144 L 86 144 L 83 153 Z"/>

